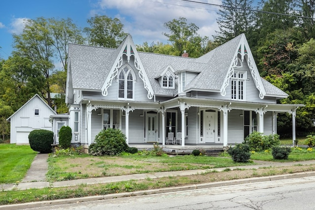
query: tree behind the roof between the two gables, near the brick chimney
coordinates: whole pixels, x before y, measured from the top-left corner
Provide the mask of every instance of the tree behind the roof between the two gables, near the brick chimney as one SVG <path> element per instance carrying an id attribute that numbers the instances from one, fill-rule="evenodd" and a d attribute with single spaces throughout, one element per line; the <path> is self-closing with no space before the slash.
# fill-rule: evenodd
<path id="1" fill-rule="evenodd" d="M 199 57 L 203 55 L 203 50 L 207 43 L 208 37 L 200 37 L 197 34 L 197 27 L 195 24 L 187 24 L 187 19 L 180 17 L 172 21 L 164 23 L 164 27 L 169 30 L 169 33 L 163 33 L 174 46 L 175 55 L 181 56 L 186 50 L 190 57 Z M 199 49 L 202 53 L 196 53 Z"/>

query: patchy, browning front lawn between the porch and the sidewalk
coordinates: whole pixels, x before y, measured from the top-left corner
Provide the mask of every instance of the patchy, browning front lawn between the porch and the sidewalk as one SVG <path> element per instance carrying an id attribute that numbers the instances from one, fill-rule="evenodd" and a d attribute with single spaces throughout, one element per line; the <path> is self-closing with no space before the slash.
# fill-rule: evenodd
<path id="1" fill-rule="evenodd" d="M 232 159 L 226 157 L 152 156 L 142 155 L 140 152 L 139 154 L 120 156 L 89 156 L 87 154 L 51 156 L 48 158 L 48 164 L 47 179 L 49 181 L 61 181 L 165 171 L 212 169 L 253 165 L 254 163 L 252 161 L 234 163 Z"/>

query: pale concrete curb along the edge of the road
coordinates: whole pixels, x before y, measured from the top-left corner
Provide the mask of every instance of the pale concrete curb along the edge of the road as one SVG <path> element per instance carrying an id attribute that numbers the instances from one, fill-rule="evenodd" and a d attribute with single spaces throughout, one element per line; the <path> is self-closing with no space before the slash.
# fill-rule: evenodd
<path id="1" fill-rule="evenodd" d="M 63 205 L 63 204 L 71 204 L 71 203 L 73 204 L 73 203 L 80 203 L 80 202 L 87 202 L 87 201 L 107 200 L 107 199 L 113 199 L 113 198 L 151 195 L 151 194 L 186 191 L 186 190 L 193 190 L 193 189 L 204 189 L 204 188 L 211 188 L 211 187 L 246 184 L 246 183 L 254 183 L 254 182 L 261 182 L 261 181 L 287 180 L 287 179 L 312 177 L 312 176 L 315 176 L 315 172 L 302 172 L 302 173 L 296 173 L 296 174 L 285 174 L 285 175 L 276 175 L 276 176 L 269 176 L 269 177 L 218 181 L 218 182 L 203 183 L 203 184 L 191 184 L 191 185 L 179 186 L 179 187 L 142 190 L 142 191 L 136 191 L 136 192 L 125 192 L 125 193 L 117 193 L 117 194 L 89 196 L 89 197 L 82 197 L 82 198 L 69 198 L 69 199 L 61 199 L 61 200 L 53 200 L 53 201 L 40 201 L 40 202 L 32 202 L 32 203 L 24 203 L 24 204 L 4 205 L 4 206 L 0 206 L 0 210 L 21 210 L 21 209 L 28 209 L 28 208 L 47 207 L 47 206 L 55 206 L 55 205 Z"/>

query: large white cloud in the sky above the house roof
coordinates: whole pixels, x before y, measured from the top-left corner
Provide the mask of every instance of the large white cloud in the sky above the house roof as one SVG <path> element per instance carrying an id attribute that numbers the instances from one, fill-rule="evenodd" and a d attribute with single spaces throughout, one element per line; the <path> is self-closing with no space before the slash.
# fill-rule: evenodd
<path id="1" fill-rule="evenodd" d="M 221 0 L 212 3 L 221 4 Z M 142 44 L 144 41 L 166 43 L 167 38 L 162 33 L 168 31 L 163 24 L 179 17 L 198 26 L 199 35 L 212 38 L 218 30 L 218 9 L 218 6 L 178 0 L 100 0 L 90 14 L 119 18 L 135 44 Z"/>

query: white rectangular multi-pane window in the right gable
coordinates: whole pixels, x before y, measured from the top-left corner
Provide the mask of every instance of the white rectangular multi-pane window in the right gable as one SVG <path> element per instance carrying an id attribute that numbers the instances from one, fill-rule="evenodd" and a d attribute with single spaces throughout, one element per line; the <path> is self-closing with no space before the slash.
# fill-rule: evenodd
<path id="1" fill-rule="evenodd" d="M 234 70 L 231 79 L 232 100 L 245 100 L 245 81 L 246 72 Z"/>

